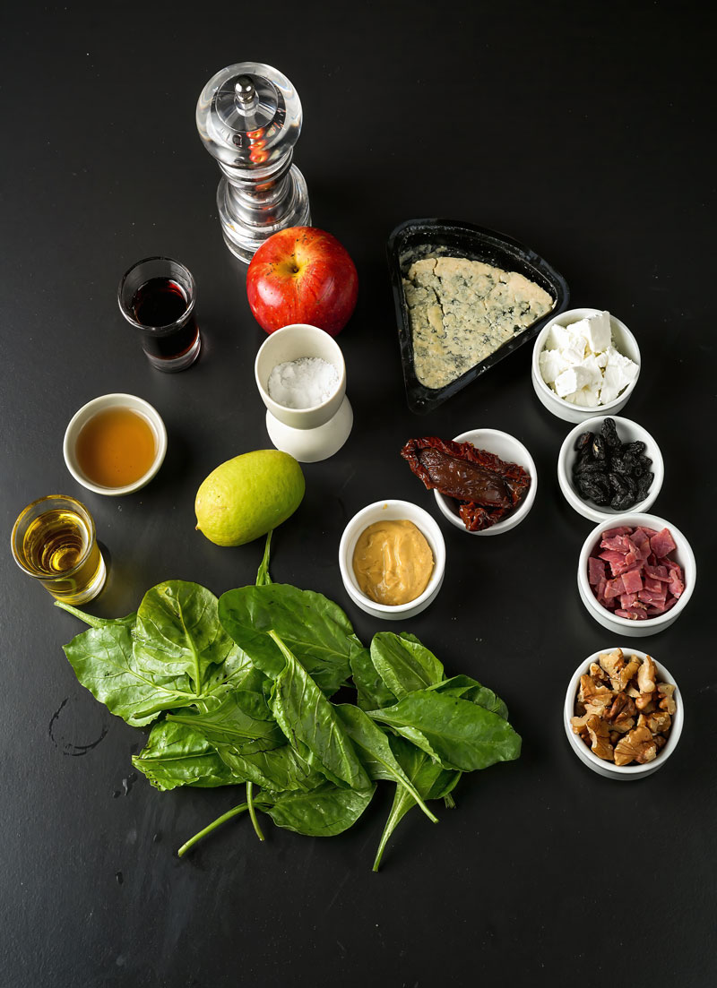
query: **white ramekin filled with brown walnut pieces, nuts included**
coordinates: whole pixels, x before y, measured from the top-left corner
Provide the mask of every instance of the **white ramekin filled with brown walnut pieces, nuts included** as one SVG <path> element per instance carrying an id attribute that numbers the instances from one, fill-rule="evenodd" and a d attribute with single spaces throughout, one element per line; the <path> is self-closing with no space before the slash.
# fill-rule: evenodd
<path id="1" fill-rule="evenodd" d="M 670 670 L 635 648 L 594 652 L 566 693 L 568 741 L 588 769 L 608 779 L 644 779 L 661 769 L 683 720 Z"/>

